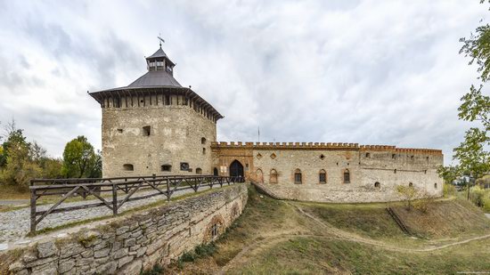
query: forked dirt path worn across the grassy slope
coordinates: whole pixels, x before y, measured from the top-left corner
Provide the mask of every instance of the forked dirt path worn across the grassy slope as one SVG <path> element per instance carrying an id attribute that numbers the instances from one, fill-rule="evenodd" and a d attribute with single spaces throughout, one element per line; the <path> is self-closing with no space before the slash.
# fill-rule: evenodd
<path id="1" fill-rule="evenodd" d="M 288 205 L 292 206 L 290 203 L 288 203 Z M 293 206 L 293 207 L 295 207 L 298 210 L 298 213 L 302 214 L 308 219 L 313 220 L 314 222 L 322 226 L 324 229 L 327 229 L 327 231 L 325 231 L 325 234 L 319 235 L 319 234 L 312 234 L 312 233 L 302 233 L 302 232 L 292 233 L 291 231 L 280 231 L 280 232 L 275 232 L 274 234 L 269 236 L 261 236 L 257 239 L 254 239 L 249 244 L 249 246 L 243 247 L 241 251 L 237 255 L 235 255 L 230 262 L 226 263 L 226 265 L 223 266 L 220 271 L 216 272 L 216 274 L 219 275 L 225 274 L 227 271 L 233 270 L 233 268 L 241 266 L 243 263 L 246 263 L 249 260 L 250 255 L 257 254 L 258 252 L 263 251 L 268 247 L 273 247 L 275 244 L 290 238 L 314 237 L 314 238 L 321 238 L 321 239 L 347 240 L 355 243 L 381 247 L 383 249 L 390 250 L 390 251 L 405 252 L 405 253 L 430 252 L 430 251 L 445 249 L 447 247 L 459 246 L 475 240 L 490 238 L 490 234 L 486 234 L 483 236 L 464 239 L 461 241 L 456 241 L 453 243 L 439 245 L 439 246 L 431 246 L 431 247 L 423 247 L 423 248 L 394 247 L 394 246 L 387 245 L 386 243 L 379 240 L 365 239 L 354 233 L 339 230 L 338 228 L 334 227 L 330 223 L 323 222 L 313 214 L 306 213 L 301 207 L 299 206 Z"/>

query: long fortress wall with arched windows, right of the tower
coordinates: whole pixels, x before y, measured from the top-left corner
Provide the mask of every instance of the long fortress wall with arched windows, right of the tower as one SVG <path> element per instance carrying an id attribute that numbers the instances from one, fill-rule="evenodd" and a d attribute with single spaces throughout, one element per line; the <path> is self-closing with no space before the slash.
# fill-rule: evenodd
<path id="1" fill-rule="evenodd" d="M 440 197 L 443 181 L 437 166 L 440 150 L 359 146 L 355 143 L 213 143 L 220 171 L 237 159 L 245 175 L 263 182 L 277 197 L 320 202 L 382 202 L 400 200 L 397 185 Z M 274 181 L 276 172 L 276 181 Z M 348 172 L 349 182 L 344 181 Z M 295 173 L 301 182 L 295 182 Z M 326 182 L 320 182 L 320 174 Z M 224 173 L 226 175 L 226 173 Z"/>

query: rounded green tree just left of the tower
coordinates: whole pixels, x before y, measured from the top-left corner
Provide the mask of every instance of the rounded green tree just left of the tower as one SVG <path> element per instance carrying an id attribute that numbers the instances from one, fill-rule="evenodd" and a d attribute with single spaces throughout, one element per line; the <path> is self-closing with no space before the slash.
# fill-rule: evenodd
<path id="1" fill-rule="evenodd" d="M 83 135 L 68 142 L 63 151 L 62 173 L 66 177 L 94 177 L 101 171 L 100 157 Z"/>

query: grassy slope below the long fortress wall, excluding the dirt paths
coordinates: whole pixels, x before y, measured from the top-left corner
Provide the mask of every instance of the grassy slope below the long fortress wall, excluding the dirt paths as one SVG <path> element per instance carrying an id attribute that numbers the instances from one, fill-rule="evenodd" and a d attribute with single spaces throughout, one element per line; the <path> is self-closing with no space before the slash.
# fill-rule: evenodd
<path id="1" fill-rule="evenodd" d="M 429 247 L 445 237 L 432 234 L 434 228 L 431 226 L 445 226 L 451 229 L 453 236 L 461 232 L 463 225 L 465 233 L 472 232 L 476 235 L 478 232 L 478 235 L 483 235 L 490 232 L 486 230 L 490 220 L 486 220 L 481 211 L 465 205 L 464 202 L 459 206 L 455 206 L 456 203 L 460 204 L 454 201 L 437 203 L 437 209 L 432 210 L 434 216 L 451 210 L 453 214 L 450 217 L 458 217 L 457 221 L 448 222 L 446 219 L 429 225 L 412 223 L 412 226 L 423 225 L 419 232 L 427 238 L 414 241 L 396 227 L 396 223 L 384 209 L 387 206 L 385 204 L 335 205 L 276 201 L 265 196 L 260 198 L 257 191 L 251 188 L 248 206 L 233 227 L 216 241 L 216 253 L 193 263 L 185 263 L 184 267 L 171 267 L 166 274 L 213 273 L 230 263 L 242 248 L 249 247 L 257 241 L 264 244 L 242 255 L 241 263 L 233 264 L 229 273 L 441 274 L 456 271 L 490 271 L 490 260 L 487 260 L 490 259 L 490 239 L 433 252 L 389 251 L 353 241 L 332 239 L 328 230 L 299 214 L 295 208 L 300 206 L 307 213 L 314 214 L 336 228 L 363 238 L 377 239 L 390 245 L 399 243 L 403 247 Z M 421 214 L 411 215 L 414 218 Z M 274 239 L 274 236 L 281 233 L 288 234 L 288 237 L 267 243 L 267 240 Z M 323 236 L 290 236 L 290 233 Z"/>

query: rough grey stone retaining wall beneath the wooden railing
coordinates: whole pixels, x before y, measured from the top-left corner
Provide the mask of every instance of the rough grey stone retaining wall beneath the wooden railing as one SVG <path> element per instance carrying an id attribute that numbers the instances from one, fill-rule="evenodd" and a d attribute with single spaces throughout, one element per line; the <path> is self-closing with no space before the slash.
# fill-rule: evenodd
<path id="1" fill-rule="evenodd" d="M 216 233 L 240 216 L 247 186 L 238 183 L 103 225 L 80 227 L 68 236 L 53 233 L 29 247 L 3 252 L 0 260 L 9 261 L 13 274 L 140 274 L 216 239 Z"/>

